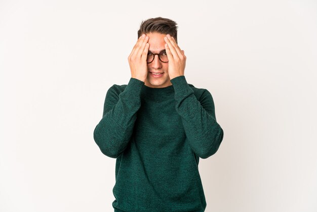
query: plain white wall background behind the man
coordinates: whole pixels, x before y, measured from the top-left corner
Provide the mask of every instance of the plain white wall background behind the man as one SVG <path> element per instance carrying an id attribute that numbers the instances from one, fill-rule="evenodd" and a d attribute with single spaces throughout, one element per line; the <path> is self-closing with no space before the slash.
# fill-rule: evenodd
<path id="1" fill-rule="evenodd" d="M 142 20 L 179 25 L 185 77 L 224 130 L 206 211 L 317 211 L 317 3 L 0 1 L 0 211 L 113 211 L 93 130 Z"/>

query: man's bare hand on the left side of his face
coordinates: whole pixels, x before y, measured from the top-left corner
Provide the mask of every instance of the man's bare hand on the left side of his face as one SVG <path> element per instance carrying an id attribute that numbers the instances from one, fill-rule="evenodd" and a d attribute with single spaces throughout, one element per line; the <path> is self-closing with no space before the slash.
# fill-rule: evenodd
<path id="1" fill-rule="evenodd" d="M 147 77 L 147 52 L 149 49 L 148 37 L 145 34 L 138 39 L 128 57 L 131 77 L 145 82 Z"/>

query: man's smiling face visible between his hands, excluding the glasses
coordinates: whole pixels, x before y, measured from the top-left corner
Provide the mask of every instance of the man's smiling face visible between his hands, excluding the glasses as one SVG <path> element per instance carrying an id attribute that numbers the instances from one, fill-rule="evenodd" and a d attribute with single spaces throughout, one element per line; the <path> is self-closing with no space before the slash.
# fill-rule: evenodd
<path id="1" fill-rule="evenodd" d="M 161 34 L 157 32 L 152 32 L 146 34 L 149 37 L 149 51 L 153 54 L 159 54 L 165 50 L 164 37 L 166 34 Z M 159 55 L 154 56 L 154 60 L 151 63 L 147 63 L 147 78 L 145 85 L 151 88 L 164 88 L 172 85 L 169 77 L 169 63 L 162 62 L 159 59 Z M 163 73 L 159 76 L 155 76 L 152 73 Z"/>

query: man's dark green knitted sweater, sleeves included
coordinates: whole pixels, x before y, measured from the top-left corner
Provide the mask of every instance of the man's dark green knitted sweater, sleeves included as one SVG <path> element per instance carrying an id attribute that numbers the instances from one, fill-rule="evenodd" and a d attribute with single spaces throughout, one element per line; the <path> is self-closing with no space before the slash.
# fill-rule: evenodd
<path id="1" fill-rule="evenodd" d="M 116 158 L 114 211 L 205 211 L 199 158 L 223 138 L 212 95 L 185 76 L 165 88 L 131 78 L 113 85 L 94 130 L 101 152 Z"/>

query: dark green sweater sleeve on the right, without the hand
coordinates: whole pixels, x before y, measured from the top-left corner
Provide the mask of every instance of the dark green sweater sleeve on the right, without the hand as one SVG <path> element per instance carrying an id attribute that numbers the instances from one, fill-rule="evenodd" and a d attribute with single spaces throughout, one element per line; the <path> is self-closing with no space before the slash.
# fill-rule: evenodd
<path id="1" fill-rule="evenodd" d="M 205 89 L 197 100 L 185 76 L 173 78 L 171 83 L 175 90 L 176 111 L 181 116 L 189 144 L 196 155 L 206 159 L 217 152 L 223 139 L 212 95 Z"/>

